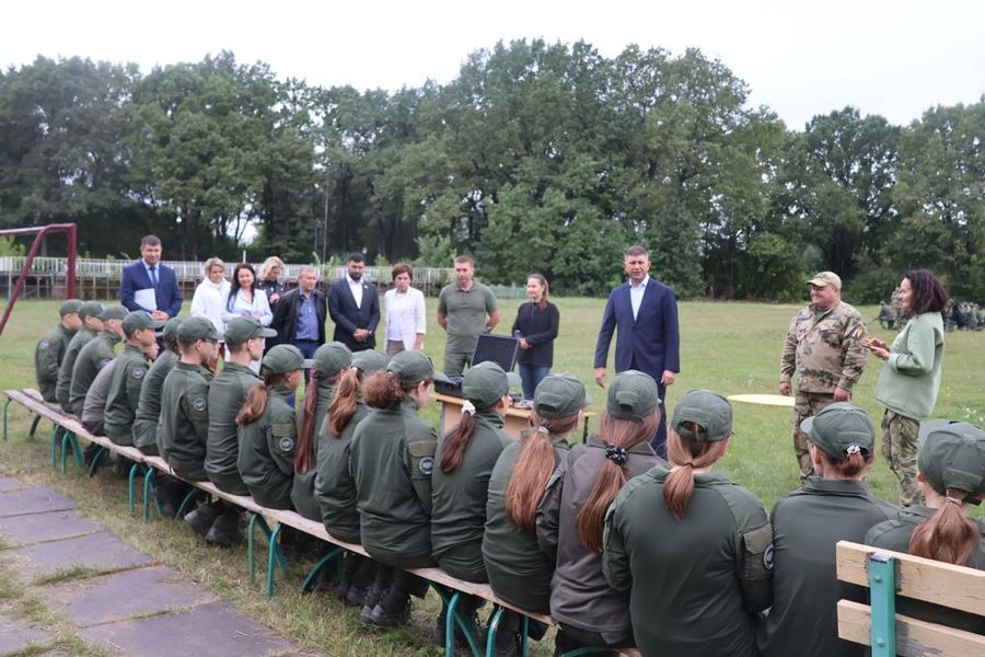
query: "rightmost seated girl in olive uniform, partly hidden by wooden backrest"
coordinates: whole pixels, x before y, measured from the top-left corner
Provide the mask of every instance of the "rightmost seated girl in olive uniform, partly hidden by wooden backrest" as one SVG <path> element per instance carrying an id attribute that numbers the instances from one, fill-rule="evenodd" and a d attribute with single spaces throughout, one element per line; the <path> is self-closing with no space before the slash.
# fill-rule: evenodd
<path id="1" fill-rule="evenodd" d="M 919 431 L 917 486 L 924 505 L 900 510 L 866 534 L 866 543 L 985 570 L 985 526 L 970 517 L 985 499 L 985 431 L 966 422 L 932 419 Z M 896 598 L 896 613 L 985 634 L 985 618 Z"/>

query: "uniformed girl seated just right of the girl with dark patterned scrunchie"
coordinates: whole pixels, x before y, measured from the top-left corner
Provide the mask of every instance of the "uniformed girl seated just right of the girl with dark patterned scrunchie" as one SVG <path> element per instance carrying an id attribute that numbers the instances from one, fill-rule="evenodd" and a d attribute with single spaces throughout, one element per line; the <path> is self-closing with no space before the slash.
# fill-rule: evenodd
<path id="1" fill-rule="evenodd" d="M 756 614 L 773 600 L 773 531 L 752 493 L 712 472 L 732 407 L 692 390 L 674 408 L 673 466 L 630 481 L 606 518 L 603 567 L 629 593 L 644 655 L 756 655 Z"/>

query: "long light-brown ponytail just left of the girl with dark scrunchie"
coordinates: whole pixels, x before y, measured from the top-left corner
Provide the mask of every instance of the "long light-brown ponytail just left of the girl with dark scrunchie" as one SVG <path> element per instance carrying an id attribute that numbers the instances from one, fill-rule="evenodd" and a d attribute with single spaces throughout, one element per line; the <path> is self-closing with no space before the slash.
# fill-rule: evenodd
<path id="1" fill-rule="evenodd" d="M 531 531 L 537 507 L 546 493 L 547 480 L 554 472 L 554 445 L 551 436 L 566 436 L 578 426 L 578 414 L 558 419 L 530 412 L 531 428 L 520 436 L 520 450 L 506 488 L 506 514 L 513 525 Z"/>

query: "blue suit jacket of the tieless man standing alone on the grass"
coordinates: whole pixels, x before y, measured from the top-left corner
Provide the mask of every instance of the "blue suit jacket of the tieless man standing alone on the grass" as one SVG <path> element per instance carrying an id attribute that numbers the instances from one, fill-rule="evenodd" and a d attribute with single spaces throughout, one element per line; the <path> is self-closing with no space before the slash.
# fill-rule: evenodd
<path id="1" fill-rule="evenodd" d="M 647 283 L 636 320 L 629 301 L 629 284 L 613 289 L 602 313 L 595 344 L 595 367 L 605 367 L 612 333 L 616 336 L 615 371 L 635 367 L 660 383 L 664 370 L 681 371 L 681 338 L 677 333 L 677 299 L 652 277 Z"/>

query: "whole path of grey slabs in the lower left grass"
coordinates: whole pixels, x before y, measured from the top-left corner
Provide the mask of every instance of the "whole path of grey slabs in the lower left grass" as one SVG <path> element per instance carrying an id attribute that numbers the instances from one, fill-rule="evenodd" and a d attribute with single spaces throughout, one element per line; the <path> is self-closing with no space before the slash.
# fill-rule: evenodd
<path id="1" fill-rule="evenodd" d="M 155 564 L 70 499 L 0 476 L 0 564 L 82 641 L 113 655 L 268 657 L 301 652 L 208 589 Z M 83 567 L 109 574 L 38 584 Z M 0 598 L 0 655 L 40 649 L 53 637 Z"/>

